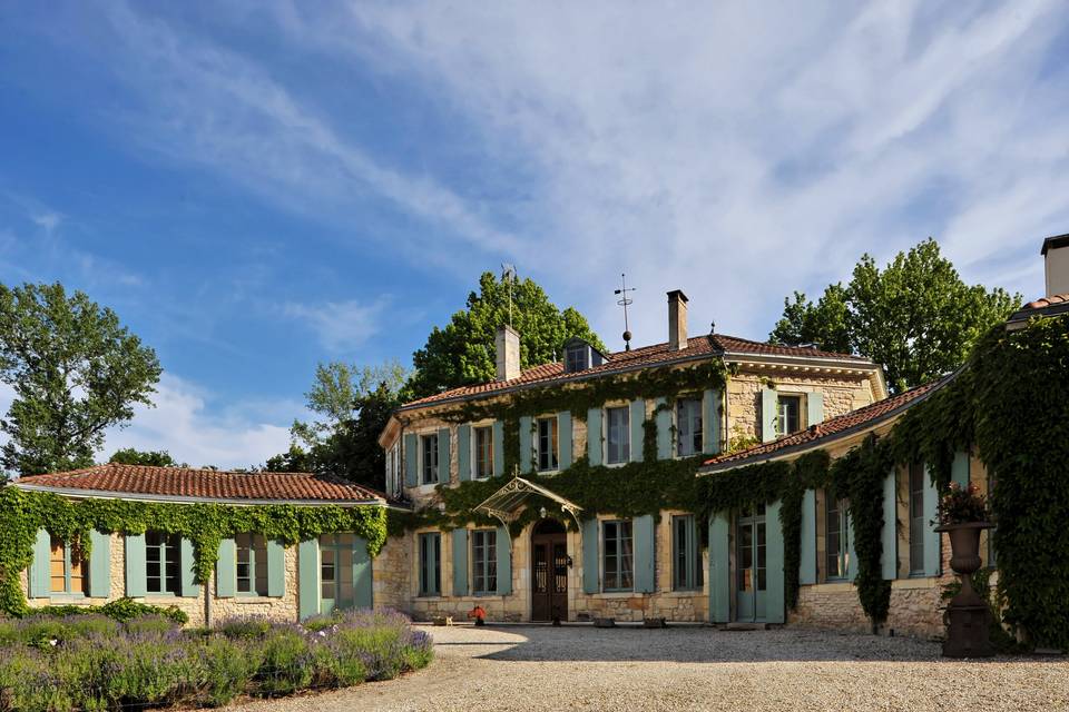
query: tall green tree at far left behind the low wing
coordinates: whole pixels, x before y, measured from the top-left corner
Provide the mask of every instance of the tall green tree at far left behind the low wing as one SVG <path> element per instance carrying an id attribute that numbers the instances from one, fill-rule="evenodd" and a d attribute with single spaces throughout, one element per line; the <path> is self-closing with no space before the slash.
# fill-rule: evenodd
<path id="1" fill-rule="evenodd" d="M 0 421 L 2 465 L 22 475 L 92 464 L 159 380 L 156 353 L 81 291 L 0 285 L 0 380 L 14 400 Z"/>

